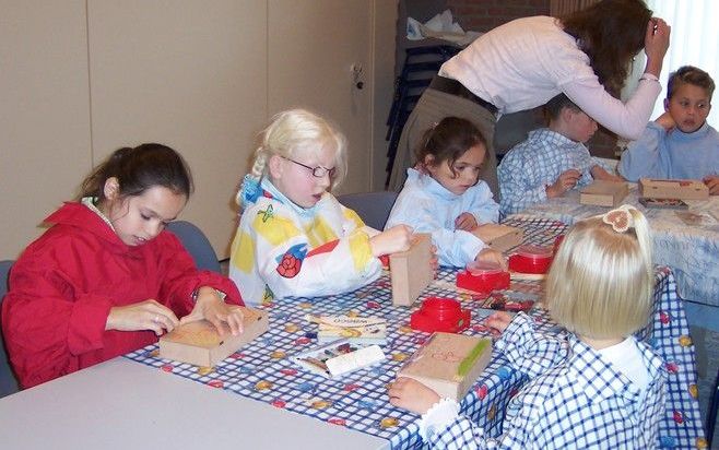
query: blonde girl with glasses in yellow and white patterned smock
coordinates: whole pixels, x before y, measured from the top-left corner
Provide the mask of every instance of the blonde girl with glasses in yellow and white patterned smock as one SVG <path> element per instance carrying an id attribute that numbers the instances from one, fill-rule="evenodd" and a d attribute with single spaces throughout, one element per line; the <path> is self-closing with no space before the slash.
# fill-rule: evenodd
<path id="1" fill-rule="evenodd" d="M 409 248 L 410 227 L 366 227 L 329 192 L 346 171 L 346 140 L 326 119 L 304 109 L 272 118 L 237 194 L 229 276 L 245 301 L 354 291 L 379 277 L 380 256 Z"/>

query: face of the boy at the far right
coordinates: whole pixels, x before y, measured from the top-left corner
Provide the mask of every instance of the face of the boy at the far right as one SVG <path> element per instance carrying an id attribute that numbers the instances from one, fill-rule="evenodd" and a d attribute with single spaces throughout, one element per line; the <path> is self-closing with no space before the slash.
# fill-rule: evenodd
<path id="1" fill-rule="evenodd" d="M 684 83 L 680 85 L 672 98 L 664 100 L 664 109 L 669 111 L 682 132 L 693 133 L 707 120 L 711 110 L 711 98 L 704 87 Z"/>

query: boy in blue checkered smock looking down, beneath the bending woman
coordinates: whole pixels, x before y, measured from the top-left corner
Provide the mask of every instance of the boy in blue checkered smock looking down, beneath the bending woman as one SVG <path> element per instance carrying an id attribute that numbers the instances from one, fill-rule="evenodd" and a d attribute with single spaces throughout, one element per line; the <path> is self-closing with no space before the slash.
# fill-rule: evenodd
<path id="1" fill-rule="evenodd" d="M 531 131 L 499 165 L 504 215 L 587 186 L 593 179 L 620 180 L 602 168 L 584 144 L 597 131 L 591 117 L 564 94 L 549 100 L 544 109 L 549 128 Z"/>

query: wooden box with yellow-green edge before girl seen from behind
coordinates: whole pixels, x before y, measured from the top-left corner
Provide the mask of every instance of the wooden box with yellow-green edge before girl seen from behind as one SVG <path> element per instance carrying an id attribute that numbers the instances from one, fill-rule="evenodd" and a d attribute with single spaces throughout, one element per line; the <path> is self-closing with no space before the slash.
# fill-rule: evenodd
<path id="1" fill-rule="evenodd" d="M 491 357 L 490 338 L 434 333 L 397 376 L 414 378 L 440 398 L 459 402 L 490 364 Z"/>

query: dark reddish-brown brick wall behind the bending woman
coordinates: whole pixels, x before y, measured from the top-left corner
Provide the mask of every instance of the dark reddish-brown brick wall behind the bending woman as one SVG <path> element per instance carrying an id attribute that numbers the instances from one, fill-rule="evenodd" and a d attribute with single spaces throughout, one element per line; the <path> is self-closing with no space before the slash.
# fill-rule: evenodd
<path id="1" fill-rule="evenodd" d="M 550 0 L 447 0 L 455 20 L 465 31 L 488 32 L 528 15 L 549 15 Z M 592 155 L 615 157 L 616 135 L 603 128 L 587 143 Z"/>

